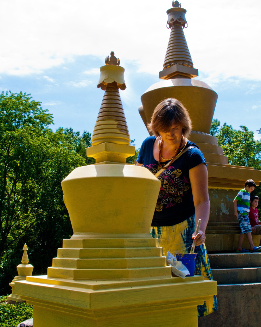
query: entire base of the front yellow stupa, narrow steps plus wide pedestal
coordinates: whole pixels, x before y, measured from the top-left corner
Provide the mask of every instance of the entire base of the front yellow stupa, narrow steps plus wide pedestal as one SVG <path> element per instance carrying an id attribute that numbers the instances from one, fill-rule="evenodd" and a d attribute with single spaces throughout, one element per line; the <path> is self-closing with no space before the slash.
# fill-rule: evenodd
<path id="1" fill-rule="evenodd" d="M 34 327 L 196 327 L 197 305 L 217 293 L 217 282 L 172 277 L 156 242 L 64 240 L 48 275 L 16 282 L 15 292 L 34 305 Z"/>

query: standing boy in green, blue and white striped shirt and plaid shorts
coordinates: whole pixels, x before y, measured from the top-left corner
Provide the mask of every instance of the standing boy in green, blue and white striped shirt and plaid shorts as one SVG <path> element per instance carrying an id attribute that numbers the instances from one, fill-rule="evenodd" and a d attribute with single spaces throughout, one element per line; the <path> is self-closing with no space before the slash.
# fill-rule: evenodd
<path id="1" fill-rule="evenodd" d="M 236 252 L 249 252 L 249 250 L 242 249 L 242 242 L 245 234 L 247 234 L 248 242 L 250 244 L 250 252 L 261 252 L 261 246 L 254 246 L 252 240 L 252 229 L 248 219 L 250 208 L 250 193 L 255 189 L 256 184 L 253 180 L 247 180 L 245 187 L 238 192 L 234 199 L 235 217 L 238 219 L 241 234 L 238 239 L 238 248 Z"/>

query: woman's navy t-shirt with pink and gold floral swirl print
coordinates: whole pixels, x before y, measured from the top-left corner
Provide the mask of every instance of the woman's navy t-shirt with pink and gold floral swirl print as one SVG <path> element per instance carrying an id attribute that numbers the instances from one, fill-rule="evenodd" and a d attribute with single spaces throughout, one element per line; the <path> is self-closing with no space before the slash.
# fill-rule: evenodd
<path id="1" fill-rule="evenodd" d="M 142 163 L 154 175 L 161 169 L 159 162 L 153 157 L 155 140 L 155 136 L 147 137 L 137 158 L 137 163 Z M 194 147 L 182 154 L 158 176 L 161 189 L 151 226 L 176 225 L 195 213 L 189 170 L 200 163 L 206 164 L 206 160 L 195 143 L 188 141 L 186 148 L 189 146 Z"/>

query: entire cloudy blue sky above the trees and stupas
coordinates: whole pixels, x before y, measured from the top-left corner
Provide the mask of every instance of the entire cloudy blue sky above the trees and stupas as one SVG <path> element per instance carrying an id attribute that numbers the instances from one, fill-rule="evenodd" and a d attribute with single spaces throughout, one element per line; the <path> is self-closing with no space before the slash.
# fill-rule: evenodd
<path id="1" fill-rule="evenodd" d="M 257 0 L 183 0 L 184 30 L 198 79 L 218 93 L 214 118 L 234 128 L 261 128 L 260 33 Z M 12 8 L 10 6 L 12 5 Z M 31 93 L 54 115 L 53 129 L 93 132 L 103 91 L 100 66 L 110 51 L 125 68 L 120 91 L 131 139 L 148 135 L 141 95 L 160 81 L 170 31 L 170 0 L 108 2 L 2 0 L 0 91 Z"/>

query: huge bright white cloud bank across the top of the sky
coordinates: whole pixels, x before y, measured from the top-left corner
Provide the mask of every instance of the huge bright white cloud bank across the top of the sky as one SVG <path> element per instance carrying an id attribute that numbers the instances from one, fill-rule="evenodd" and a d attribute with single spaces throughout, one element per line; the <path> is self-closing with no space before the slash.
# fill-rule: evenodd
<path id="1" fill-rule="evenodd" d="M 75 0 L 73 6 L 64 0 L 12 0 L 12 10 L 9 1 L 2 0 L 0 29 L 4 35 L 19 31 L 26 42 L 23 37 L 5 40 L 0 73 L 39 74 L 81 55 L 104 61 L 110 51 L 123 66 L 135 62 L 139 72 L 158 74 L 162 68 L 170 0 L 132 0 L 131 6 L 120 1 L 113 7 L 105 0 Z M 182 5 L 188 21 L 184 33 L 199 73 L 260 80 L 259 0 L 187 0 Z"/>

